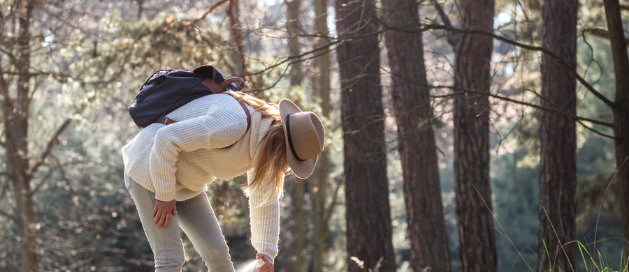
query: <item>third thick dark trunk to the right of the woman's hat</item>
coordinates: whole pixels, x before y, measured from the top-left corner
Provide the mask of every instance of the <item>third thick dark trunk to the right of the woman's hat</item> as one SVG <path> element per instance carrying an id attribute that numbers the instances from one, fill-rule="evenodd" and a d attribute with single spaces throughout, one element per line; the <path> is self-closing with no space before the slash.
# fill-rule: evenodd
<path id="1" fill-rule="evenodd" d="M 461 0 L 463 28 L 493 30 L 493 0 Z M 489 93 L 493 39 L 462 34 L 454 48 L 454 85 Z M 454 98 L 454 192 L 458 270 L 496 271 L 496 237 L 489 179 L 489 96 Z"/>

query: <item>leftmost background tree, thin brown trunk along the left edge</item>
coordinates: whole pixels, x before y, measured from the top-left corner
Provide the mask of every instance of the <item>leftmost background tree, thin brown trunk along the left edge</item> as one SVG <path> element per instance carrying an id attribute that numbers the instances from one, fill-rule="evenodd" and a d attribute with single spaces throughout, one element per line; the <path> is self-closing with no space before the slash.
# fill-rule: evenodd
<path id="1" fill-rule="evenodd" d="M 13 192 L 15 192 L 15 209 L 13 216 L 10 216 L 20 229 L 17 241 L 22 245 L 22 267 L 21 270 L 38 271 L 36 245 L 35 245 L 35 211 L 33 200 L 33 172 L 37 168 L 31 169 L 33 163 L 29 158 L 29 108 L 31 104 L 31 20 L 35 1 L 17 1 L 13 6 L 13 13 L 9 20 L 13 21 L 13 29 L 8 27 L 8 31 L 17 30 L 11 33 L 17 37 L 15 46 L 9 49 L 8 58 L 13 64 L 8 70 L 15 71 L 17 79 L 15 82 L 15 96 L 12 98 L 9 90 L 9 83 L 12 79 L 5 79 L 6 73 L 2 73 L 2 100 L 4 104 L 4 139 L 6 139 L 8 156 L 8 177 L 13 182 Z M 17 22 L 17 25 L 15 25 Z M 4 69 L 3 69 L 4 70 Z M 54 142 L 51 142 L 54 144 Z M 51 146 L 52 147 L 52 146 Z M 44 157 L 45 158 L 45 157 Z M 39 165 L 36 165 L 39 167 Z"/>

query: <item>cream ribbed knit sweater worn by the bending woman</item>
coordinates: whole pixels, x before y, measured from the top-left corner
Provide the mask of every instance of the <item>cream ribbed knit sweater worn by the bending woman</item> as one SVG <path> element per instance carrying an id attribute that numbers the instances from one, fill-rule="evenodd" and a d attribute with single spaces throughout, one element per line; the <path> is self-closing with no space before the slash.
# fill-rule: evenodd
<path id="1" fill-rule="evenodd" d="M 207 190 L 215 179 L 247 172 L 260 158 L 261 139 L 271 120 L 249 107 L 251 127 L 238 101 L 226 93 L 204 96 L 168 114 L 177 123 L 153 123 L 122 148 L 125 171 L 161 201 L 182 201 Z M 269 177 L 273 179 L 273 177 Z M 275 258 L 280 235 L 275 188 L 250 192 L 251 241 L 258 252 Z"/>

